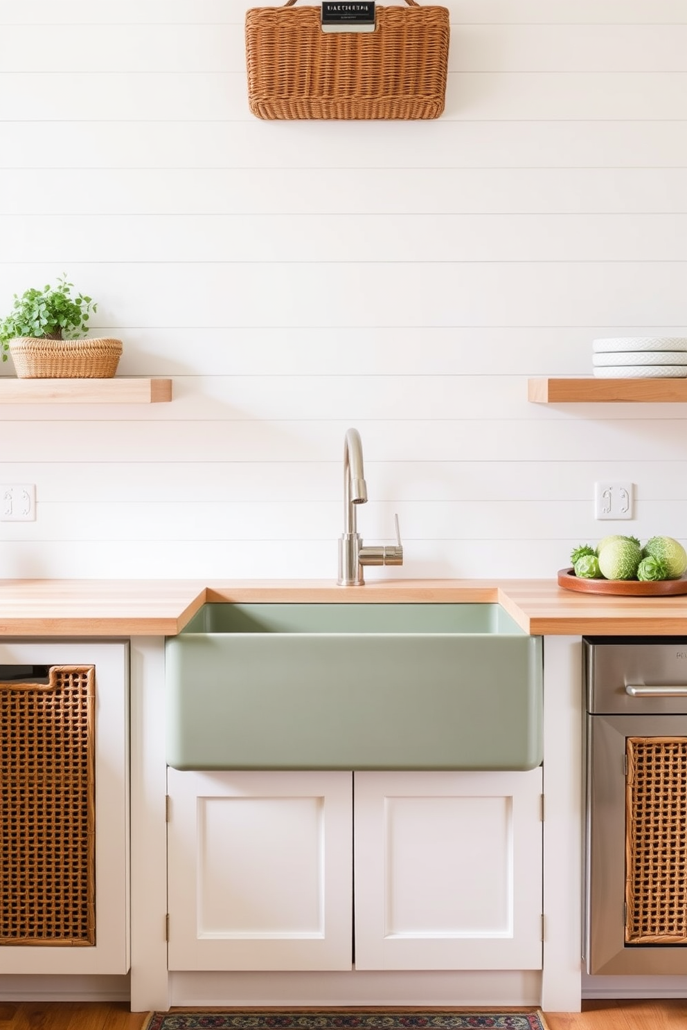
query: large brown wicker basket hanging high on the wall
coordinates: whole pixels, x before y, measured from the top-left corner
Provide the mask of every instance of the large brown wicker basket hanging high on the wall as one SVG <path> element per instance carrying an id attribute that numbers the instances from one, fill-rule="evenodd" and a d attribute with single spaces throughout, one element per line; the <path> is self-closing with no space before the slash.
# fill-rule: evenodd
<path id="1" fill-rule="evenodd" d="M 322 32 L 319 7 L 246 12 L 248 103 L 259 118 L 438 118 L 446 7 L 377 7 L 374 32 Z"/>

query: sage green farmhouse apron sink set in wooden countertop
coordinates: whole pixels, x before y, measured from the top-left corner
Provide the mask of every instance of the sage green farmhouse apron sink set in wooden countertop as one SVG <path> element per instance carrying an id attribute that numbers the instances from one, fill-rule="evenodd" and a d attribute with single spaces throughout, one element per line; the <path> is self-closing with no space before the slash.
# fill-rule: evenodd
<path id="1" fill-rule="evenodd" d="M 209 604 L 165 646 L 178 769 L 542 761 L 542 639 L 495 604 Z"/>

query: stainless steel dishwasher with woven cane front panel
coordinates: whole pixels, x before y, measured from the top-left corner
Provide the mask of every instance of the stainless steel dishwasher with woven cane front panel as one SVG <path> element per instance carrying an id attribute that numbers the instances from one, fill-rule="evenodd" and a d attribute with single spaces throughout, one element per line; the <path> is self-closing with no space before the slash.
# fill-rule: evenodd
<path id="1" fill-rule="evenodd" d="M 687 972 L 687 637 L 583 639 L 585 962 Z"/>

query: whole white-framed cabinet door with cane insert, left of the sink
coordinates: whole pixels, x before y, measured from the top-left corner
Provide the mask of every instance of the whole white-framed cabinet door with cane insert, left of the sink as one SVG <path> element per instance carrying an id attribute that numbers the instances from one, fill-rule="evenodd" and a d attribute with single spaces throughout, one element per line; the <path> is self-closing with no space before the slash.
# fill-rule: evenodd
<path id="1" fill-rule="evenodd" d="M 0 641 L 2 973 L 129 968 L 128 666 L 123 641 Z"/>

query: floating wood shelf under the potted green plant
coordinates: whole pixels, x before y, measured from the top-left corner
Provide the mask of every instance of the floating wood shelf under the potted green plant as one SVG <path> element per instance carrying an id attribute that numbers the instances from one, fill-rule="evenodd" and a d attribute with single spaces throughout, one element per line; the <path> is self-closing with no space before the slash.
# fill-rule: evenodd
<path id="1" fill-rule="evenodd" d="M 0 378 L 0 404 L 157 404 L 171 400 L 171 379 Z"/>

